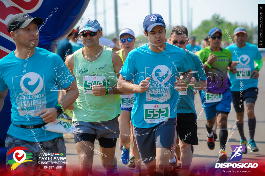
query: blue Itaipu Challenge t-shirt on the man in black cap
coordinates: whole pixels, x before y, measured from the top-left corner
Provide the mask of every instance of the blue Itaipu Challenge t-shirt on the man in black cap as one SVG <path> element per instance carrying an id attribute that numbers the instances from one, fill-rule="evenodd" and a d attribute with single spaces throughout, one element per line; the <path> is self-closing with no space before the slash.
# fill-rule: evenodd
<path id="1" fill-rule="evenodd" d="M 31 57 L 19 59 L 14 51 L 0 59 L 0 91 L 10 90 L 12 104 L 12 124 L 7 134 L 30 142 L 62 137 L 63 134 L 50 131 L 46 131 L 45 137 L 45 130 L 41 128 L 31 130 L 14 125 L 45 123 L 38 112 L 58 104 L 58 86 L 66 89 L 74 78 L 55 53 L 36 47 Z"/>

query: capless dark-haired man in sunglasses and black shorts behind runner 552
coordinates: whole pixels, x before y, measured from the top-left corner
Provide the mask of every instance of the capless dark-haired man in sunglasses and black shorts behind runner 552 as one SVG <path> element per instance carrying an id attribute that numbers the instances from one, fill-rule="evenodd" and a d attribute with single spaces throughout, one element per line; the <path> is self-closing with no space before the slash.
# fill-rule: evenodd
<path id="1" fill-rule="evenodd" d="M 177 113 L 177 136 L 180 139 L 180 149 L 181 149 L 181 165 L 182 169 L 189 170 L 189 166 L 192 161 L 192 145 L 198 145 L 197 137 L 197 125 L 196 125 L 196 110 L 194 104 L 194 95 L 193 89 L 203 90 L 206 84 L 206 75 L 204 74 L 204 68 L 201 66 L 201 61 L 196 54 L 186 50 L 188 44 L 188 38 L 186 39 L 181 33 L 185 34 L 185 37 L 188 37 L 188 29 L 185 26 L 174 26 L 170 31 L 169 43 L 171 45 L 178 46 L 185 50 L 187 59 L 191 65 L 192 70 L 192 81 L 190 86 L 185 91 L 179 92 L 180 99 L 178 104 L 178 113 Z M 191 136 L 185 138 L 187 134 L 191 132 Z M 175 137 L 177 137 L 175 136 Z M 174 150 L 171 153 L 170 165 L 172 168 L 176 165 L 176 156 L 174 155 Z"/>

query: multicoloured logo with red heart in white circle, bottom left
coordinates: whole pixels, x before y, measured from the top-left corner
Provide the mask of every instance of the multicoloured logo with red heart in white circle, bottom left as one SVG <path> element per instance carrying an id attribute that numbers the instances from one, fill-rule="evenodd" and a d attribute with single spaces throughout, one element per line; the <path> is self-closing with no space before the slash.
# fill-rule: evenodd
<path id="1" fill-rule="evenodd" d="M 14 170 L 23 162 L 32 161 L 33 153 L 26 147 L 14 147 L 7 152 L 7 164 L 10 164 L 11 170 Z M 33 161 L 32 161 L 33 162 Z"/>

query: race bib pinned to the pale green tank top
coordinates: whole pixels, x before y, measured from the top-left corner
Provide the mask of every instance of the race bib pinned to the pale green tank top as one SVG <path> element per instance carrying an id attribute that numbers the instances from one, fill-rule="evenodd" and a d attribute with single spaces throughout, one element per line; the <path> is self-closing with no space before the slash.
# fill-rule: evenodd
<path id="1" fill-rule="evenodd" d="M 92 94 L 92 86 L 99 84 L 107 86 L 107 79 L 105 76 L 83 76 L 83 93 Z"/>

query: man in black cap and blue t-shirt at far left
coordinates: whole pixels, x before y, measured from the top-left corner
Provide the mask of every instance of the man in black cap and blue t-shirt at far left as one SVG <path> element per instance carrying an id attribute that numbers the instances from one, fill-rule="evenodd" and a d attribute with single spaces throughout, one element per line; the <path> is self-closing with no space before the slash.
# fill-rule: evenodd
<path id="1" fill-rule="evenodd" d="M 5 146 L 8 150 L 26 147 L 33 153 L 33 162 L 24 162 L 18 167 L 22 170 L 33 171 L 39 153 L 66 152 L 63 134 L 41 127 L 53 122 L 79 95 L 74 78 L 60 56 L 37 47 L 39 36 L 36 33 L 42 22 L 40 17 L 33 18 L 28 14 L 12 16 L 7 30 L 16 49 L 0 60 L 0 111 L 8 89 L 12 104 L 12 123 Z M 57 102 L 59 86 L 67 92 L 60 105 Z"/>

